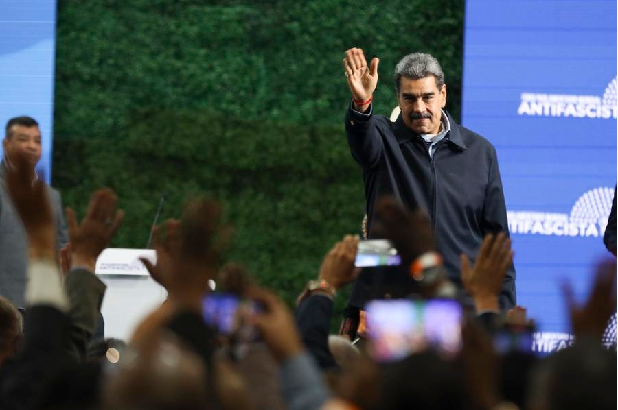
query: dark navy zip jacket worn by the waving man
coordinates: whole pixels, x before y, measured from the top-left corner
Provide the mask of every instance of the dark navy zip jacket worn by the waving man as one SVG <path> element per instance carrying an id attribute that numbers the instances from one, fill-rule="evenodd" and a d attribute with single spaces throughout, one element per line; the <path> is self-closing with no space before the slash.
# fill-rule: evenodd
<path id="1" fill-rule="evenodd" d="M 367 116 L 350 108 L 345 132 L 352 156 L 363 169 L 369 237 L 379 197 L 394 195 L 407 208 L 417 204 L 433 222 L 437 249 L 450 280 L 461 287 L 459 254 L 467 254 L 474 262 L 485 234 L 508 233 L 508 223 L 496 149 L 446 115 L 451 130 L 435 147 L 433 159 L 423 138 L 407 128 L 401 116 L 392 123 L 382 115 Z M 375 277 L 369 277 L 372 274 L 363 272 L 356 281 L 350 298 L 353 306 L 383 297 L 371 294 L 381 289 L 367 291 L 367 283 L 376 283 Z M 501 309 L 516 305 L 513 266 L 499 301 Z"/>

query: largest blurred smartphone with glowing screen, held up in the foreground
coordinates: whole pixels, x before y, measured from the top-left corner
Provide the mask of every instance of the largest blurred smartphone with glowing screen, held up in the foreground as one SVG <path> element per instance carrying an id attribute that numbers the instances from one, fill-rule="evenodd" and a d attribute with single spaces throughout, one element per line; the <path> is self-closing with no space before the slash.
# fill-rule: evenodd
<path id="1" fill-rule="evenodd" d="M 461 305 L 454 300 L 373 300 L 365 306 L 369 353 L 396 361 L 429 348 L 446 357 L 461 349 Z"/>

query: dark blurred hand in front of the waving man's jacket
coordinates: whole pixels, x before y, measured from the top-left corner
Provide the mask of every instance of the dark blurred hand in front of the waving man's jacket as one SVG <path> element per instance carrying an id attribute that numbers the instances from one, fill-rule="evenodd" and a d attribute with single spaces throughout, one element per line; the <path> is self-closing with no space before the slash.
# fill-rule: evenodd
<path id="1" fill-rule="evenodd" d="M 374 237 L 389 239 L 405 267 L 425 252 L 435 251 L 431 221 L 420 208 L 407 212 L 395 198 L 382 197 L 376 204 L 376 215 Z"/>

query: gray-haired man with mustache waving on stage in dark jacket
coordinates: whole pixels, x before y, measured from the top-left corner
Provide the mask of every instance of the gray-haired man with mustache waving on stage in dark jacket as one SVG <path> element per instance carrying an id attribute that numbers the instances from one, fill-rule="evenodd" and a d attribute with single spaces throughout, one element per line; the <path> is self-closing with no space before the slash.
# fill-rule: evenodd
<path id="1" fill-rule="evenodd" d="M 363 170 L 369 237 L 378 197 L 393 195 L 407 208 L 424 208 L 448 277 L 461 287 L 460 255 L 474 261 L 486 234 L 508 232 L 496 150 L 443 110 L 444 73 L 428 54 L 410 54 L 396 66 L 401 109 L 396 121 L 374 115 L 371 101 L 378 84 L 378 64 L 378 58 L 367 64 L 363 50 L 357 48 L 347 50 L 343 58 L 352 93 L 345 132 L 352 156 Z M 363 308 L 371 298 L 404 296 L 406 291 L 402 282 L 378 272 L 363 272 L 352 290 L 350 305 Z M 501 309 L 516 304 L 512 265 L 499 303 Z"/>

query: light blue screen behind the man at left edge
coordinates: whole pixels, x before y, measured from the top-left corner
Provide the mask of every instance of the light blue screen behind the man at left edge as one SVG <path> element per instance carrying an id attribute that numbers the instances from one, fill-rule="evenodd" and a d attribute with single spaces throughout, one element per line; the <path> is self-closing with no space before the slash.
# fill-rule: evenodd
<path id="1" fill-rule="evenodd" d="M 0 122 L 28 115 L 41 128 L 37 171 L 52 171 L 56 0 L 0 1 Z"/>

